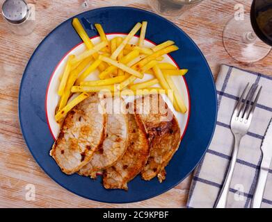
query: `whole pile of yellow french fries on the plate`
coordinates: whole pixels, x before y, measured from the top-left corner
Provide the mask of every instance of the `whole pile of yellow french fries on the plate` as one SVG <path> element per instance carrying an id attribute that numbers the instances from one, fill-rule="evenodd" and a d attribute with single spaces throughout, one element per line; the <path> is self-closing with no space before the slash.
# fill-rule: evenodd
<path id="1" fill-rule="evenodd" d="M 171 76 L 183 76 L 188 69 L 177 69 L 170 63 L 161 62 L 163 55 L 179 49 L 175 42 L 168 40 L 152 48 L 145 47 L 147 22 L 137 23 L 126 37 L 114 37 L 112 40 L 108 40 L 101 24 L 95 24 L 101 39 L 96 45 L 88 37 L 79 19 L 74 18 L 72 26 L 86 45 L 86 51 L 70 55 L 67 59 L 58 87 L 61 99 L 56 109 L 57 122 L 75 105 L 88 98 L 89 92 L 102 90 L 112 94 L 118 92 L 121 96 L 166 93 L 172 98 L 170 101 L 175 110 L 182 113 L 187 111 Z M 129 41 L 140 29 L 138 44 L 130 44 Z M 99 80 L 87 81 L 86 78 L 95 70 L 99 70 Z M 136 79 L 143 79 L 145 74 L 151 74 L 153 78 L 134 83 Z M 158 83 L 161 87 L 152 87 Z M 170 92 L 173 96 L 169 96 Z M 69 101 L 75 93 L 80 94 Z"/>

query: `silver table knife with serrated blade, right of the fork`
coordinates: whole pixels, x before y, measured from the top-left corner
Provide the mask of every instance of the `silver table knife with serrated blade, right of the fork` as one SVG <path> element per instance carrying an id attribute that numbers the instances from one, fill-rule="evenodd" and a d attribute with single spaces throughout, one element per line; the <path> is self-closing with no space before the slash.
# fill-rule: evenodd
<path id="1" fill-rule="evenodd" d="M 264 196 L 264 188 L 266 185 L 266 179 L 269 174 L 269 167 L 272 159 L 272 118 L 269 122 L 269 126 L 266 129 L 264 140 L 262 141 L 261 150 L 262 150 L 262 163 L 259 169 L 259 178 L 253 196 L 252 208 L 261 207 L 262 198 Z"/>

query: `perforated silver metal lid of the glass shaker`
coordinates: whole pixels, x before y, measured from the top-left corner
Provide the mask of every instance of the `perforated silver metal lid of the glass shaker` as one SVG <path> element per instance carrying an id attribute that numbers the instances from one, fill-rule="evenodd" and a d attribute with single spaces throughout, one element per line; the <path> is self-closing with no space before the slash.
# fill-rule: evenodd
<path id="1" fill-rule="evenodd" d="M 29 8 L 24 0 L 6 0 L 2 6 L 2 14 L 8 22 L 19 24 L 29 15 Z"/>

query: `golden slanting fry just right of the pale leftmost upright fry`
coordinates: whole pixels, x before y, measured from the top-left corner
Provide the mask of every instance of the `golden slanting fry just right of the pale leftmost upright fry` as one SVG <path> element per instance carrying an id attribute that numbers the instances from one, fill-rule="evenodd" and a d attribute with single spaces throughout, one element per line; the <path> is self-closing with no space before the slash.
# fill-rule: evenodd
<path id="1" fill-rule="evenodd" d="M 71 88 L 74 85 L 74 82 L 77 80 L 77 77 L 79 76 L 81 71 L 83 71 L 83 69 L 86 68 L 86 66 L 90 63 L 91 60 L 92 60 L 92 58 L 90 58 L 90 57 L 86 58 L 85 60 L 83 60 L 79 64 L 79 66 L 76 69 L 74 69 L 73 71 L 70 72 L 70 75 L 67 79 L 67 83 L 65 85 L 64 93 L 61 96 L 61 100 L 58 105 L 58 110 L 61 110 L 67 104 L 67 101 L 68 101 L 70 94 L 71 94 Z"/>

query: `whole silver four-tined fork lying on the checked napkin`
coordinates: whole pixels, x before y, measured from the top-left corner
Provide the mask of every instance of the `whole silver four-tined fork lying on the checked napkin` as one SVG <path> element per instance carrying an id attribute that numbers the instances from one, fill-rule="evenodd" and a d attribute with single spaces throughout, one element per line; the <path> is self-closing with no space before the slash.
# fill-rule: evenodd
<path id="1" fill-rule="evenodd" d="M 230 167 L 227 171 L 224 185 L 221 189 L 221 193 L 218 196 L 218 200 L 214 205 L 216 208 L 225 208 L 227 205 L 227 194 L 230 189 L 230 182 L 232 180 L 232 174 L 234 171 L 235 162 L 237 160 L 240 142 L 243 136 L 248 133 L 250 123 L 253 119 L 253 113 L 259 99 L 259 94 L 262 92 L 262 87 L 259 87 L 259 91 L 257 92 L 258 85 L 253 84 L 250 87 L 248 94 L 246 95 L 246 99 L 243 99 L 243 96 L 246 94 L 246 90 L 248 89 L 248 85 L 249 83 L 243 90 L 243 93 L 239 98 L 236 108 L 234 109 L 234 112 L 232 114 L 232 119 L 230 121 L 230 129 L 232 130 L 232 134 L 234 135 L 234 148 L 232 151 L 232 160 L 230 162 Z M 255 96 L 255 92 L 257 92 L 257 96 Z M 253 102 L 254 96 L 255 100 Z"/>

